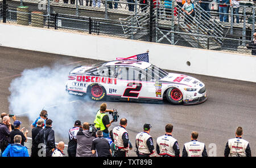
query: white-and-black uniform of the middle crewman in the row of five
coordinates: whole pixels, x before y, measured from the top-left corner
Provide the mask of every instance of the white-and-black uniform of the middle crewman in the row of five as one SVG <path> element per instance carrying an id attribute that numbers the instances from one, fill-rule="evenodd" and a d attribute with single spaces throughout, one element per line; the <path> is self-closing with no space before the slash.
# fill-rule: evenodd
<path id="1" fill-rule="evenodd" d="M 156 139 L 156 152 L 163 157 L 179 157 L 180 148 L 172 135 L 165 134 Z"/>

